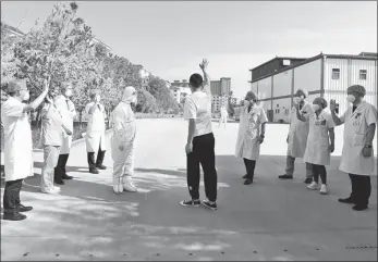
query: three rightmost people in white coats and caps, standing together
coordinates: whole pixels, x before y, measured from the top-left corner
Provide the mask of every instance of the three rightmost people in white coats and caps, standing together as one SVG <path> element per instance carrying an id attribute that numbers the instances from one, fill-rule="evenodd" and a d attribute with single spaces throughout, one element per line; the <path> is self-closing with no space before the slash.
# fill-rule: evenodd
<path id="1" fill-rule="evenodd" d="M 352 192 L 340 198 L 342 203 L 353 203 L 353 210 L 368 208 L 371 194 L 370 175 L 375 173 L 373 140 L 377 124 L 377 109 L 364 101 L 366 90 L 361 85 L 346 89 L 347 101 L 352 103 L 341 117 L 336 113 L 336 101 L 330 101 L 330 113 L 325 109 L 328 102 L 318 97 L 310 104 L 306 101 L 305 89 L 296 90 L 294 107 L 290 115 L 285 174 L 281 179 L 292 179 L 294 161 L 303 158 L 306 163 L 306 179 L 310 190 L 328 194 L 326 165 L 330 165 L 330 154 L 334 150 L 334 127 L 344 126 L 343 149 L 340 171 L 347 173 L 352 182 Z M 321 184 L 319 184 L 319 176 Z"/>

